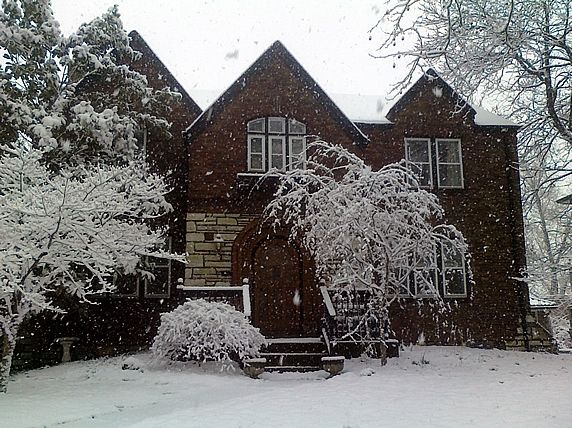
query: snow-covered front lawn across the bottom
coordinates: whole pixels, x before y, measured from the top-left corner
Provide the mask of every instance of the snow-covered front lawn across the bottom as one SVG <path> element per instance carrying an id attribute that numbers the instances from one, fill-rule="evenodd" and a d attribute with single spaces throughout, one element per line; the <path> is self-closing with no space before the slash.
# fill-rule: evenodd
<path id="1" fill-rule="evenodd" d="M 572 355 L 406 348 L 345 371 L 219 372 L 150 368 L 147 354 L 20 373 L 0 396 L 0 426 L 571 427 Z"/>

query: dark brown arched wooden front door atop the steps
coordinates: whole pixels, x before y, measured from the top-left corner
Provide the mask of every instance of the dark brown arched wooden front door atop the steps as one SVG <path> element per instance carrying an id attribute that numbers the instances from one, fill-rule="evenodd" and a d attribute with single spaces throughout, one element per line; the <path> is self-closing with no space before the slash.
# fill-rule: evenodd
<path id="1" fill-rule="evenodd" d="M 253 322 L 267 337 L 302 334 L 302 260 L 285 239 L 263 241 L 253 254 Z"/>

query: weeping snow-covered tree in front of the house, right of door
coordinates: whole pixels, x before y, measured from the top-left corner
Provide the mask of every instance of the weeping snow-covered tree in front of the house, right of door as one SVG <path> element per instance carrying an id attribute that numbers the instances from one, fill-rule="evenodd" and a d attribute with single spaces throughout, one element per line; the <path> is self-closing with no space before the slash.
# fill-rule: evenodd
<path id="1" fill-rule="evenodd" d="M 372 296 L 364 321 L 381 327 L 403 295 L 438 292 L 431 270 L 437 253 L 468 255 L 462 234 L 443 224 L 436 195 L 419 188 L 405 164 L 373 170 L 357 155 L 323 141 L 308 145 L 305 168 L 269 171 L 278 189 L 265 210 L 272 225 L 287 225 L 314 257 L 318 276 L 334 289 L 362 288 Z M 415 276 L 412 292 L 408 278 Z M 412 296 L 415 297 L 415 296 Z"/>

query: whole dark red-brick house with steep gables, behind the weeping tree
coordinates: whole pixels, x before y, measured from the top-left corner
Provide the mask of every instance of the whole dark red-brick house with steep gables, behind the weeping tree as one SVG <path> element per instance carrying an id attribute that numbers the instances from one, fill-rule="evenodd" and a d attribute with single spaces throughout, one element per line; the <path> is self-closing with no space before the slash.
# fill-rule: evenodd
<path id="1" fill-rule="evenodd" d="M 136 32 L 131 37 L 143 53 L 133 67 L 152 86 L 182 94 L 171 117 L 173 138 L 154 139 L 149 130 L 146 150 L 158 171 L 170 172 L 170 242 L 173 250 L 187 252 L 188 264 L 158 265 L 155 283 L 128 284 L 89 316 L 76 318 L 80 327 L 66 335 L 78 336 L 86 349 L 95 346 L 94 355 L 144 348 L 159 313 L 205 297 L 249 312 L 268 337 L 335 342 L 344 314 L 358 310 L 359 296 L 332 305 L 308 252 L 288 241 L 286 230 L 260 227 L 273 185 L 259 185 L 258 178 L 270 167 L 288 167 L 312 135 L 346 147 L 374 168 L 404 158 L 419 167 L 447 222 L 468 241 L 473 281 L 464 261 L 439 258 L 431 275 L 445 305 L 434 304 L 434 296 L 398 299 L 391 307 L 395 338 L 530 349 L 528 289 L 515 279 L 526 266 L 518 126 L 460 103 L 432 70 L 386 117 L 352 121 L 280 42 L 201 112 L 145 41 Z M 446 282 L 445 275 L 454 279 Z M 417 293 L 414 279 L 407 287 Z"/>

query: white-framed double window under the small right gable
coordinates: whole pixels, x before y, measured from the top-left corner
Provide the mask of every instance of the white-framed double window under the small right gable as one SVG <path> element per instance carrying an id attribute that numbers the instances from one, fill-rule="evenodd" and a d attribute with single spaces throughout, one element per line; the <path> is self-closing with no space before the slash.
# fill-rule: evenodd
<path id="1" fill-rule="evenodd" d="M 463 188 L 461 140 L 406 138 L 405 159 L 421 187 Z"/>

